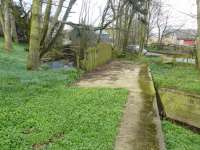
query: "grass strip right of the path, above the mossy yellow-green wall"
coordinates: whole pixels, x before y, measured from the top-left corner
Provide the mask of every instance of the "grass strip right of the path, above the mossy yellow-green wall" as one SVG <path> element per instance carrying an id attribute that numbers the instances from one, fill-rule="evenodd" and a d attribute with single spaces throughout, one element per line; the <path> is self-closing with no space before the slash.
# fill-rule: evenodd
<path id="1" fill-rule="evenodd" d="M 200 72 L 194 65 L 153 63 L 150 67 L 157 87 L 200 94 Z"/>

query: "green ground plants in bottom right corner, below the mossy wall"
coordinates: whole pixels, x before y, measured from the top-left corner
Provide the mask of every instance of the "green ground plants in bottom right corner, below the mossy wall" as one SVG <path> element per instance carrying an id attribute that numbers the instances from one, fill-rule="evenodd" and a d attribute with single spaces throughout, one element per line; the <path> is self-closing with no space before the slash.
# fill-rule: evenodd
<path id="1" fill-rule="evenodd" d="M 163 121 L 167 150 L 199 150 L 200 135 Z"/>

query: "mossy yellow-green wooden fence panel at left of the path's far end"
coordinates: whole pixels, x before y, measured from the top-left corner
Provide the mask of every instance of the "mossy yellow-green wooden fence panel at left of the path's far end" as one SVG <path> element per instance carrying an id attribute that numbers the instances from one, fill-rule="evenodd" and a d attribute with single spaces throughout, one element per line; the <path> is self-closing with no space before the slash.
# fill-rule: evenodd
<path id="1" fill-rule="evenodd" d="M 112 47 L 109 44 L 100 43 L 97 47 L 88 48 L 85 51 L 82 68 L 91 71 L 96 67 L 107 63 L 112 58 Z"/>

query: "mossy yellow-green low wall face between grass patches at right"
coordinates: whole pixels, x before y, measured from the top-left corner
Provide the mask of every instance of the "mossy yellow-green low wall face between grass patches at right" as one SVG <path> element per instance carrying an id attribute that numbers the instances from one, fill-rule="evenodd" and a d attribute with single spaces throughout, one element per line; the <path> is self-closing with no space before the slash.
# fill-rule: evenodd
<path id="1" fill-rule="evenodd" d="M 166 117 L 200 128 L 200 95 L 159 89 Z"/>

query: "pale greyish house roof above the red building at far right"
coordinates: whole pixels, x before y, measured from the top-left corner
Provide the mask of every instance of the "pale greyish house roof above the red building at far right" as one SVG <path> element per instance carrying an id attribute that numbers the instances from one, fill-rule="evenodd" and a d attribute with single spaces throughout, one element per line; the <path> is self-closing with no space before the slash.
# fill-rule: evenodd
<path id="1" fill-rule="evenodd" d="M 175 35 L 178 40 L 194 40 L 196 39 L 197 30 L 193 29 L 178 30 L 175 32 Z"/>

